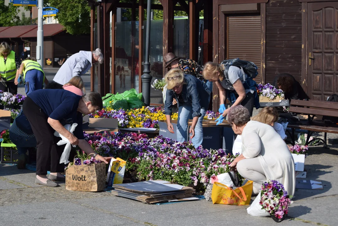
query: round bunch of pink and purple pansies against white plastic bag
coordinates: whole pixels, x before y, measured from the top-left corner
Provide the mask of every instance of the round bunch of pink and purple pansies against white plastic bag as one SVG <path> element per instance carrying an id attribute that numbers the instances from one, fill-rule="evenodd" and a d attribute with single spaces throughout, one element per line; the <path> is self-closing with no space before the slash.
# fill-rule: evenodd
<path id="1" fill-rule="evenodd" d="M 288 215 L 291 203 L 283 184 L 276 180 L 264 181 L 259 204 L 267 211 L 275 222 L 282 222 Z"/>

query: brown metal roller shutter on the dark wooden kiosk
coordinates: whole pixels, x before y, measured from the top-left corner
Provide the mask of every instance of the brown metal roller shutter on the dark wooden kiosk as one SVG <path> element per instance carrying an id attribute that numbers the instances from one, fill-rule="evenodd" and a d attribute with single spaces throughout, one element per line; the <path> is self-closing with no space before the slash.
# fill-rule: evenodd
<path id="1" fill-rule="evenodd" d="M 240 58 L 258 67 L 257 83 L 261 81 L 261 17 L 229 17 L 229 59 Z"/>

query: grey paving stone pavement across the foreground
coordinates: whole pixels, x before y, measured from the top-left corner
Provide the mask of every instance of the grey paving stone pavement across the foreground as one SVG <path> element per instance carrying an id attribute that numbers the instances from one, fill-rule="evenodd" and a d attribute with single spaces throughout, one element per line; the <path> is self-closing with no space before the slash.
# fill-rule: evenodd
<path id="1" fill-rule="evenodd" d="M 336 226 L 338 145 L 310 147 L 307 179 L 322 180 L 323 190 L 297 190 L 289 207 L 290 226 Z M 213 205 L 206 200 L 147 205 L 110 192 L 67 191 L 63 183 L 34 184 L 35 172 L 0 164 L 0 225 L 274 225 L 270 218 L 249 216 L 247 206 Z"/>

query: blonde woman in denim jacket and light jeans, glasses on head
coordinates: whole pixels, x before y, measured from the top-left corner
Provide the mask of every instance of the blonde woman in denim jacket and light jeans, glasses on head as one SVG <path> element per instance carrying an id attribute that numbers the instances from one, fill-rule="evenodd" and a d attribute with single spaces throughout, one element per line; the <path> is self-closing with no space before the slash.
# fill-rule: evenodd
<path id="1" fill-rule="evenodd" d="M 172 101 L 178 102 L 177 141 L 188 141 L 188 120 L 192 119 L 189 129 L 190 139 L 195 147 L 202 144 L 202 120 L 209 106 L 210 91 L 207 85 L 192 75 L 183 74 L 180 69 L 171 69 L 164 78 L 167 83 L 164 114 L 166 115 L 168 130 L 174 133 L 171 124 Z"/>

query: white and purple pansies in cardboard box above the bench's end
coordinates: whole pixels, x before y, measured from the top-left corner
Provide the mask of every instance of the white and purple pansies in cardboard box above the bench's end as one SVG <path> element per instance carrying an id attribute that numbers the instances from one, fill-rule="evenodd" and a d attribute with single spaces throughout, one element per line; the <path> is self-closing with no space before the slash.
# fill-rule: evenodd
<path id="1" fill-rule="evenodd" d="M 266 85 L 258 84 L 256 90 L 260 102 L 280 102 L 281 100 L 284 100 L 283 90 L 276 89 L 270 83 L 267 83 Z"/>

